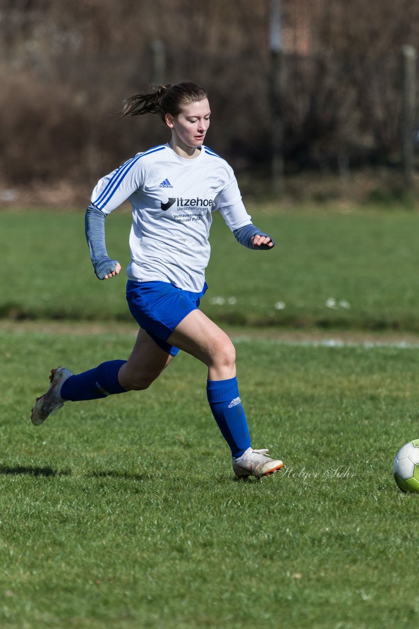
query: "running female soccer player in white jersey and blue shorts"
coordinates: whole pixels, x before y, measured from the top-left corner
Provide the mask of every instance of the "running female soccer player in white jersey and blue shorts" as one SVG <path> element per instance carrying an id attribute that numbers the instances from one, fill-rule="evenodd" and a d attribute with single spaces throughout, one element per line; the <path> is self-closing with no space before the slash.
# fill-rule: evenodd
<path id="1" fill-rule="evenodd" d="M 160 114 L 170 142 L 138 153 L 101 179 L 85 214 L 95 274 L 106 280 L 121 265 L 107 254 L 105 218 L 126 199 L 133 206 L 127 300 L 140 328 L 136 343 L 128 360 L 109 360 L 77 376 L 65 367 L 53 369 L 31 420 L 40 425 L 68 400 L 146 389 L 181 349 L 208 367 L 207 398 L 236 476 L 269 476 L 283 463 L 251 447 L 234 345 L 199 303 L 207 290 L 214 211 L 245 247 L 269 250 L 273 240 L 252 224 L 231 167 L 203 144 L 210 118 L 205 89 L 192 82 L 168 84 L 125 101 L 123 116 L 146 113 Z"/>

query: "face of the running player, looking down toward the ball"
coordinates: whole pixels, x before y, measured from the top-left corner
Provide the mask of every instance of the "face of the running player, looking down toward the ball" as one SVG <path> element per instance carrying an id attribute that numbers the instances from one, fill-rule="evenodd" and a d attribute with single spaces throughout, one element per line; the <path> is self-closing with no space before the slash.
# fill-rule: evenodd
<path id="1" fill-rule="evenodd" d="M 207 98 L 186 105 L 174 118 L 166 114 L 166 124 L 171 129 L 173 141 L 184 148 L 195 150 L 204 142 L 209 127 L 210 108 Z"/>

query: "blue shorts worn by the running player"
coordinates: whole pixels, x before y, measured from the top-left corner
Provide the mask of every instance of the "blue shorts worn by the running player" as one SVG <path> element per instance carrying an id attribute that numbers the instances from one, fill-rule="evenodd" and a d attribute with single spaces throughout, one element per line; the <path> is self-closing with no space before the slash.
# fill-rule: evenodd
<path id="1" fill-rule="evenodd" d="M 192 310 L 197 310 L 207 291 L 205 282 L 201 292 L 183 291 L 168 282 L 133 282 L 128 280 L 126 298 L 129 311 L 162 350 L 176 356 L 178 348 L 166 340 L 176 326 Z"/>

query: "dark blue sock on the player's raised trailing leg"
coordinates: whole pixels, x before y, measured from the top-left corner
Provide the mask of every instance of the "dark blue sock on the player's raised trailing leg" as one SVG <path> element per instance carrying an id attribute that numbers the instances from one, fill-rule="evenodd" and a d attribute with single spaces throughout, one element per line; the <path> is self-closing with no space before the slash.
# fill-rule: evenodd
<path id="1" fill-rule="evenodd" d="M 107 360 L 101 365 L 77 376 L 70 376 L 61 387 L 60 396 L 72 402 L 82 399 L 106 398 L 114 393 L 124 393 L 118 381 L 118 372 L 126 360 Z"/>

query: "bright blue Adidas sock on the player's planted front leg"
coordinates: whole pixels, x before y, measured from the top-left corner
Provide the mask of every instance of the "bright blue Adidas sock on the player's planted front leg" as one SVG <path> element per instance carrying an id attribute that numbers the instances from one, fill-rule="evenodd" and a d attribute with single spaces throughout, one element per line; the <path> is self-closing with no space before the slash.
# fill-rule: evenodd
<path id="1" fill-rule="evenodd" d="M 212 415 L 231 449 L 231 455 L 240 457 L 250 447 L 251 441 L 237 379 L 208 380 L 207 398 Z"/>

